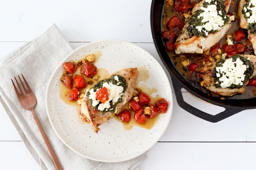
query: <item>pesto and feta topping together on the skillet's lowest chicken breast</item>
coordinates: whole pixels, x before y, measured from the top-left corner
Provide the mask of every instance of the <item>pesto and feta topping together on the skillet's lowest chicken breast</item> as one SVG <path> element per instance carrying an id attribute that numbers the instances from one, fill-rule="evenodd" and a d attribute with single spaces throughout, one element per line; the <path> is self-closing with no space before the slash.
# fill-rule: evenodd
<path id="1" fill-rule="evenodd" d="M 251 78 L 253 70 L 253 64 L 238 54 L 227 60 L 221 59 L 213 70 L 215 87 L 239 89 Z"/>

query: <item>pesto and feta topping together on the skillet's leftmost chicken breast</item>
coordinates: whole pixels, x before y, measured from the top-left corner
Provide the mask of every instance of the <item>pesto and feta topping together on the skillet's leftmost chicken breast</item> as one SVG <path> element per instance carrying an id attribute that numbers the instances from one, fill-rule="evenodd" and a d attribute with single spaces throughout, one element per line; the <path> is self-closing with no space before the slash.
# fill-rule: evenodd
<path id="1" fill-rule="evenodd" d="M 189 18 L 189 37 L 207 37 L 228 22 L 223 0 L 205 0 L 203 6 Z"/>

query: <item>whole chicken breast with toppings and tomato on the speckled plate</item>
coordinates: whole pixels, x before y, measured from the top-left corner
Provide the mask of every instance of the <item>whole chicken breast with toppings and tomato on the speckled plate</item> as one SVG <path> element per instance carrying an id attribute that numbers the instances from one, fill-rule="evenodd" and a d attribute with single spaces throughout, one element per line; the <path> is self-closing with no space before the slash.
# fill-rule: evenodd
<path id="1" fill-rule="evenodd" d="M 108 121 L 113 115 L 118 115 L 123 106 L 133 97 L 137 75 L 137 68 L 126 68 L 107 76 L 87 89 L 82 99 L 80 118 L 89 121 L 97 133 L 100 130 L 98 126 Z M 107 92 L 104 93 L 103 89 L 107 89 Z M 99 97 L 99 94 L 103 97 Z"/>

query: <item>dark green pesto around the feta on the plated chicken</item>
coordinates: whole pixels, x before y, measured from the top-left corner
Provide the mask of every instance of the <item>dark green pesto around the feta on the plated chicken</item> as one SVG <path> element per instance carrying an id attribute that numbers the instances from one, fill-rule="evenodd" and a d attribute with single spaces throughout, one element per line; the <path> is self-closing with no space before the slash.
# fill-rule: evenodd
<path id="1" fill-rule="evenodd" d="M 118 81 L 115 79 L 115 76 L 118 77 Z M 119 74 L 114 74 L 113 76 L 111 76 L 110 79 L 102 79 L 102 80 L 98 81 L 97 84 L 95 84 L 94 86 L 92 86 L 92 89 L 94 89 L 94 92 L 96 92 L 97 89 L 102 88 L 104 83 L 113 83 L 113 84 L 115 84 L 115 85 L 117 85 L 117 86 L 122 86 L 122 87 L 123 87 L 123 92 L 126 91 L 127 86 L 128 86 L 128 84 L 127 84 L 125 78 L 123 78 L 123 77 L 120 76 Z M 87 97 L 88 97 L 88 99 L 89 99 L 89 96 L 90 96 L 90 91 L 87 92 Z M 115 112 L 115 107 L 116 107 L 116 105 L 122 101 L 122 96 L 123 96 L 123 95 L 121 95 L 121 97 L 120 97 L 120 98 L 118 99 L 118 101 L 115 102 L 115 103 L 113 103 L 112 100 L 111 100 L 111 101 L 110 101 L 110 108 L 108 108 L 108 109 L 105 108 L 105 109 L 102 110 L 102 111 L 100 110 L 100 112 L 101 112 L 101 113 L 105 113 L 105 112 L 111 111 L 112 113 L 114 113 L 114 112 Z M 90 104 L 92 105 L 92 99 L 89 99 L 89 100 L 90 100 Z M 100 105 L 100 104 L 101 104 L 101 102 L 100 102 L 98 105 Z M 95 107 L 93 107 L 93 106 L 92 106 L 92 107 L 95 108 L 95 110 L 98 110 L 98 105 L 96 105 Z"/>

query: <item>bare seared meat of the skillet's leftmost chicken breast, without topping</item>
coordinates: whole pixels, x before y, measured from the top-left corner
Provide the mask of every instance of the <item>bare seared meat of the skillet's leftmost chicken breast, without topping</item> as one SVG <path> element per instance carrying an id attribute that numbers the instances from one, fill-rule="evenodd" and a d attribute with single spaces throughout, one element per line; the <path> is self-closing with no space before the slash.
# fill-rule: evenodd
<path id="1" fill-rule="evenodd" d="M 194 8 L 192 9 L 192 15 L 195 14 L 196 10 L 199 10 L 203 6 L 203 2 L 205 0 L 202 0 L 200 3 L 196 4 Z M 225 0 L 225 10 L 228 11 L 230 7 L 231 0 Z M 184 27 L 182 28 L 181 33 L 176 39 L 176 42 L 174 44 L 175 53 L 203 53 L 204 51 L 210 49 L 214 44 L 219 42 L 220 39 L 226 34 L 228 29 L 231 27 L 231 21 L 230 19 L 228 22 L 220 28 L 218 32 L 210 33 L 207 37 L 189 37 L 189 32 L 187 31 L 187 28 L 189 26 L 189 22 L 185 23 Z"/>

